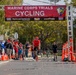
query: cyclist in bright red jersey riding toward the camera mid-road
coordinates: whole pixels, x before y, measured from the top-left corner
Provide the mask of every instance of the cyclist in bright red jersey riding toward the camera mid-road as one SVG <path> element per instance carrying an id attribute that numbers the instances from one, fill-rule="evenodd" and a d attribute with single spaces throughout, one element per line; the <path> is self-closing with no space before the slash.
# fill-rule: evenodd
<path id="1" fill-rule="evenodd" d="M 39 37 L 35 37 L 35 39 L 33 40 L 34 59 L 39 54 L 40 47 L 41 47 L 41 42 L 39 40 Z"/>

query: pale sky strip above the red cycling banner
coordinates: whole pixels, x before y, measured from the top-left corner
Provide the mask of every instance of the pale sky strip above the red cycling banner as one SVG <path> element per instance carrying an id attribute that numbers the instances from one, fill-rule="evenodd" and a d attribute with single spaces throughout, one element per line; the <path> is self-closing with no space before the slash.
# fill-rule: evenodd
<path id="1" fill-rule="evenodd" d="M 71 2 L 71 0 L 67 1 L 68 3 Z M 50 0 L 23 0 L 22 5 L 55 5 L 55 3 L 50 2 Z M 64 0 L 59 0 L 56 5 L 65 5 L 65 2 Z"/>

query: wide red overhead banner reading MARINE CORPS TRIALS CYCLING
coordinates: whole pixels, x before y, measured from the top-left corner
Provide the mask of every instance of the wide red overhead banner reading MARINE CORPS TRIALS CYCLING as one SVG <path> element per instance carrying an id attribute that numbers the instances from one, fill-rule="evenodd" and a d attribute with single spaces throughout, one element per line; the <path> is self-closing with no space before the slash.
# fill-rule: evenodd
<path id="1" fill-rule="evenodd" d="M 66 6 L 5 6 L 6 21 L 65 20 Z"/>

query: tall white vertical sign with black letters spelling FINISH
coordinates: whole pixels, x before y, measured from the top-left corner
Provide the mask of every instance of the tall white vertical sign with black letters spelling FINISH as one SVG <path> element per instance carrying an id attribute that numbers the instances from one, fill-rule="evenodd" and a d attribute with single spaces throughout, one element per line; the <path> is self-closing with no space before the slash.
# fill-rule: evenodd
<path id="1" fill-rule="evenodd" d="M 71 4 L 67 6 L 67 24 L 68 40 L 73 39 L 73 6 Z"/>

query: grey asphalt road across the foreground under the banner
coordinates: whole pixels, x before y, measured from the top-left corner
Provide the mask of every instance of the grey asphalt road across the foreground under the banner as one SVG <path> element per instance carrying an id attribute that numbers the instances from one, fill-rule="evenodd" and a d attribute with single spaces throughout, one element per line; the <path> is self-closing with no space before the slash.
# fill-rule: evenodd
<path id="1" fill-rule="evenodd" d="M 0 64 L 0 75 L 76 75 L 76 63 L 54 62 L 50 58 L 12 60 Z"/>

